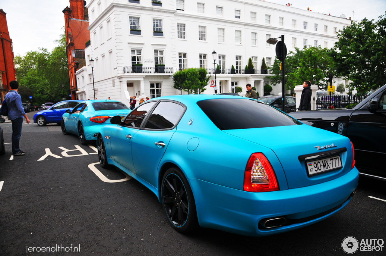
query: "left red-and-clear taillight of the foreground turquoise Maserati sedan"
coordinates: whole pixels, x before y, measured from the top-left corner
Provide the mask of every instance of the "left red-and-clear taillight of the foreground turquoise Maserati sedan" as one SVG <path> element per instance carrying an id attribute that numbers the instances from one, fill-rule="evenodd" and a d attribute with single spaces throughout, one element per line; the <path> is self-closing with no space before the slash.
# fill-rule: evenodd
<path id="1" fill-rule="evenodd" d="M 249 157 L 244 173 L 244 191 L 268 192 L 279 190 L 275 172 L 263 153 Z"/>

